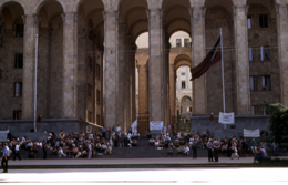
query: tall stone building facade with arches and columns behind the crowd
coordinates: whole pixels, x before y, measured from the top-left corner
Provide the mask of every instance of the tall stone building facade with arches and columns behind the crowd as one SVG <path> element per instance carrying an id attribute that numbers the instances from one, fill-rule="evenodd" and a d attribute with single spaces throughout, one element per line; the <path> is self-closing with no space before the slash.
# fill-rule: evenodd
<path id="1" fill-rule="evenodd" d="M 123 131 L 138 111 L 171 124 L 178 65 L 196 66 L 223 29 L 226 112 L 288 105 L 288 0 L 0 0 L 0 120 L 37 113 Z M 171 48 L 185 31 L 191 45 Z M 148 49 L 137 37 L 148 32 Z M 37 39 L 38 35 L 38 39 Z M 38 40 L 38 47 L 35 41 Z M 220 63 L 193 81 L 193 115 L 223 111 Z"/>

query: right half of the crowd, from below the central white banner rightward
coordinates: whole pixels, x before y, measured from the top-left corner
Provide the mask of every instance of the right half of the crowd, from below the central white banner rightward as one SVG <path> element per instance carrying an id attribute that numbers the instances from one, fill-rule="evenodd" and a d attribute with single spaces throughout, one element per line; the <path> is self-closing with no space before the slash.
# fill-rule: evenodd
<path id="1" fill-rule="evenodd" d="M 208 130 L 202 133 L 193 131 L 192 133 L 177 133 L 176 137 L 171 137 L 169 133 L 162 133 L 161 135 L 154 135 L 148 137 L 150 145 L 153 145 L 157 150 L 167 148 L 168 156 L 172 156 L 174 151 L 177 155 L 189 155 L 192 153 L 193 158 L 197 158 L 197 148 L 206 148 L 208 151 L 208 162 L 218 162 L 219 154 L 227 156 L 230 160 L 246 157 L 248 154 L 255 156 L 254 162 L 259 162 L 267 156 L 267 143 L 261 141 L 258 145 L 255 138 L 247 142 L 245 137 L 237 138 L 232 136 L 222 140 L 210 136 Z M 274 142 L 271 144 L 274 154 L 278 155 L 278 144 Z"/>

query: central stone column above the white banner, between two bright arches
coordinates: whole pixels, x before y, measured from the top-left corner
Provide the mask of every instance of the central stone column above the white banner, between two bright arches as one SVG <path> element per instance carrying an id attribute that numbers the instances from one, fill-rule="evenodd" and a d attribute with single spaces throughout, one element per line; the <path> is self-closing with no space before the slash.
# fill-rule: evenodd
<path id="1" fill-rule="evenodd" d="M 148 96 L 150 121 L 164 121 L 163 103 L 163 31 L 162 10 L 151 9 L 148 14 L 150 62 L 148 62 Z"/>

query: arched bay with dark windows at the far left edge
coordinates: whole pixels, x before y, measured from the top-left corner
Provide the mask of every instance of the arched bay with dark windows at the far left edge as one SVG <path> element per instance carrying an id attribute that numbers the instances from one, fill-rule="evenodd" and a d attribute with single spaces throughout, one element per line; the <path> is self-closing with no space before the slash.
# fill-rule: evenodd
<path id="1" fill-rule="evenodd" d="M 24 9 L 19 2 L 1 6 L 0 12 L 0 119 L 21 120 L 23 103 Z M 12 97 L 13 101 L 7 101 Z"/>

